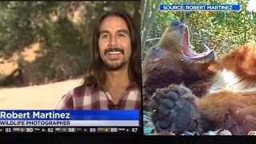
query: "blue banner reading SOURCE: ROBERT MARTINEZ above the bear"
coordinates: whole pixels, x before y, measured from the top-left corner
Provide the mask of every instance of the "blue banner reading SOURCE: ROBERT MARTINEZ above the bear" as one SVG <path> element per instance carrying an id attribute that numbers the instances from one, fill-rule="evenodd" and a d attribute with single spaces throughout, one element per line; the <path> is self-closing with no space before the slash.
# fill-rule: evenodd
<path id="1" fill-rule="evenodd" d="M 238 11 L 239 5 L 160 5 L 163 11 Z"/>

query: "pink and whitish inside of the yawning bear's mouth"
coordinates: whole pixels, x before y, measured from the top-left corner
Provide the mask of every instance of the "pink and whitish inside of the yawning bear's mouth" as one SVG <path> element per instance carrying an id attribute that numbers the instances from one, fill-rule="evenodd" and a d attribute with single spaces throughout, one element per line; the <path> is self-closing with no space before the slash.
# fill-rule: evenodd
<path id="1" fill-rule="evenodd" d="M 182 47 L 181 47 L 182 54 L 186 58 L 190 58 L 190 59 L 206 58 L 207 56 L 213 53 L 213 50 L 210 50 L 210 48 L 206 46 L 204 43 L 202 44 L 206 48 L 207 50 L 206 52 L 199 54 L 191 50 L 189 47 L 188 30 L 186 29 L 183 33 L 183 38 L 182 38 Z"/>

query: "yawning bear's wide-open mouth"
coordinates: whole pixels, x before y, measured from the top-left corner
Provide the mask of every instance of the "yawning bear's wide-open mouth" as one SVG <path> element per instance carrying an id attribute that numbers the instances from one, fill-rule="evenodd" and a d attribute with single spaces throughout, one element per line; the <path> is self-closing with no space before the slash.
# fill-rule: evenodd
<path id="1" fill-rule="evenodd" d="M 206 61 L 209 61 L 209 60 L 214 59 L 214 50 L 210 50 L 210 48 L 208 46 L 206 46 L 204 43 L 202 43 L 202 44 L 205 47 L 206 52 L 199 54 L 199 53 L 196 53 L 193 50 L 191 50 L 190 46 L 189 46 L 189 34 L 188 33 L 189 33 L 188 28 L 186 28 L 183 31 L 182 47 L 181 47 L 183 56 L 190 60 L 205 59 Z"/>

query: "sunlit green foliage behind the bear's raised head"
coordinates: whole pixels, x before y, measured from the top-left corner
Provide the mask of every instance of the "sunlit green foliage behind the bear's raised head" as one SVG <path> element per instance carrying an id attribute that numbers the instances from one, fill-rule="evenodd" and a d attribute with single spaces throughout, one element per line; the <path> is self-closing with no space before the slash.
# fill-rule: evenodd
<path id="1" fill-rule="evenodd" d="M 160 38 L 163 31 L 174 19 L 186 23 L 190 28 L 190 44 L 196 51 L 201 51 L 199 42 L 205 42 L 217 54 L 226 53 L 234 46 L 256 39 L 256 13 L 246 10 L 248 0 L 224 1 L 186 1 L 174 0 L 172 4 L 239 4 L 240 11 L 158 11 L 151 27 L 150 38 Z M 164 0 L 162 4 L 170 4 Z M 147 42 L 152 46 L 156 42 Z"/>

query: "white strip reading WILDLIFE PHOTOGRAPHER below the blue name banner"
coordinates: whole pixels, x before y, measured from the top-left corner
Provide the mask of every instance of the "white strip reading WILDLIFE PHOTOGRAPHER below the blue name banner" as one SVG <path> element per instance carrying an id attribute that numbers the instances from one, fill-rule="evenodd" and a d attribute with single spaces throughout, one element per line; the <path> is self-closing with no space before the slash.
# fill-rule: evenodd
<path id="1" fill-rule="evenodd" d="M 0 120 L 0 126 L 140 126 L 139 120 Z"/>

